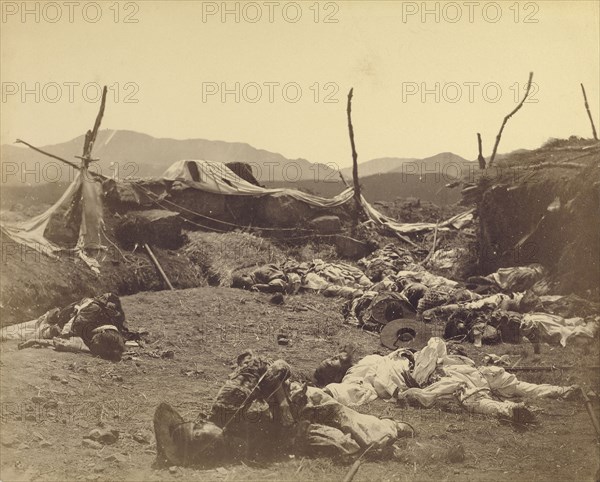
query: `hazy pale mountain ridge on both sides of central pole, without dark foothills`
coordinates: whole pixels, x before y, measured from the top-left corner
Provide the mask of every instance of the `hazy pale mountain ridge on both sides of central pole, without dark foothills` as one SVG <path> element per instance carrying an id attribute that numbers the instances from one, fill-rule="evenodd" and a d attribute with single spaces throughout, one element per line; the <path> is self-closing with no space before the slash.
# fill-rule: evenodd
<path id="1" fill-rule="evenodd" d="M 40 146 L 40 149 L 76 164 L 81 154 L 84 136 L 66 142 Z M 29 148 L 3 144 L 0 146 L 3 184 L 32 184 L 70 180 L 73 169 Z M 304 158 L 290 159 L 280 153 L 259 149 L 245 142 L 228 142 L 202 138 L 174 139 L 154 137 L 131 130 L 102 129 L 93 149 L 93 157 L 99 158 L 93 169 L 109 177 L 157 177 L 172 163 L 181 159 L 204 159 L 220 162 L 247 162 L 252 165 L 255 177 L 261 182 L 315 182 L 339 179 L 332 164 L 312 163 Z M 417 158 L 385 157 L 359 163 L 361 178 L 387 172 L 430 172 L 450 163 L 468 163 L 466 159 L 450 152 Z M 9 166 L 8 163 L 13 163 Z M 438 166 L 438 167 L 439 167 Z M 71 172 L 68 172 L 71 171 Z M 352 177 L 352 168 L 340 172 Z M 68 175 L 67 175 L 68 174 Z"/>

